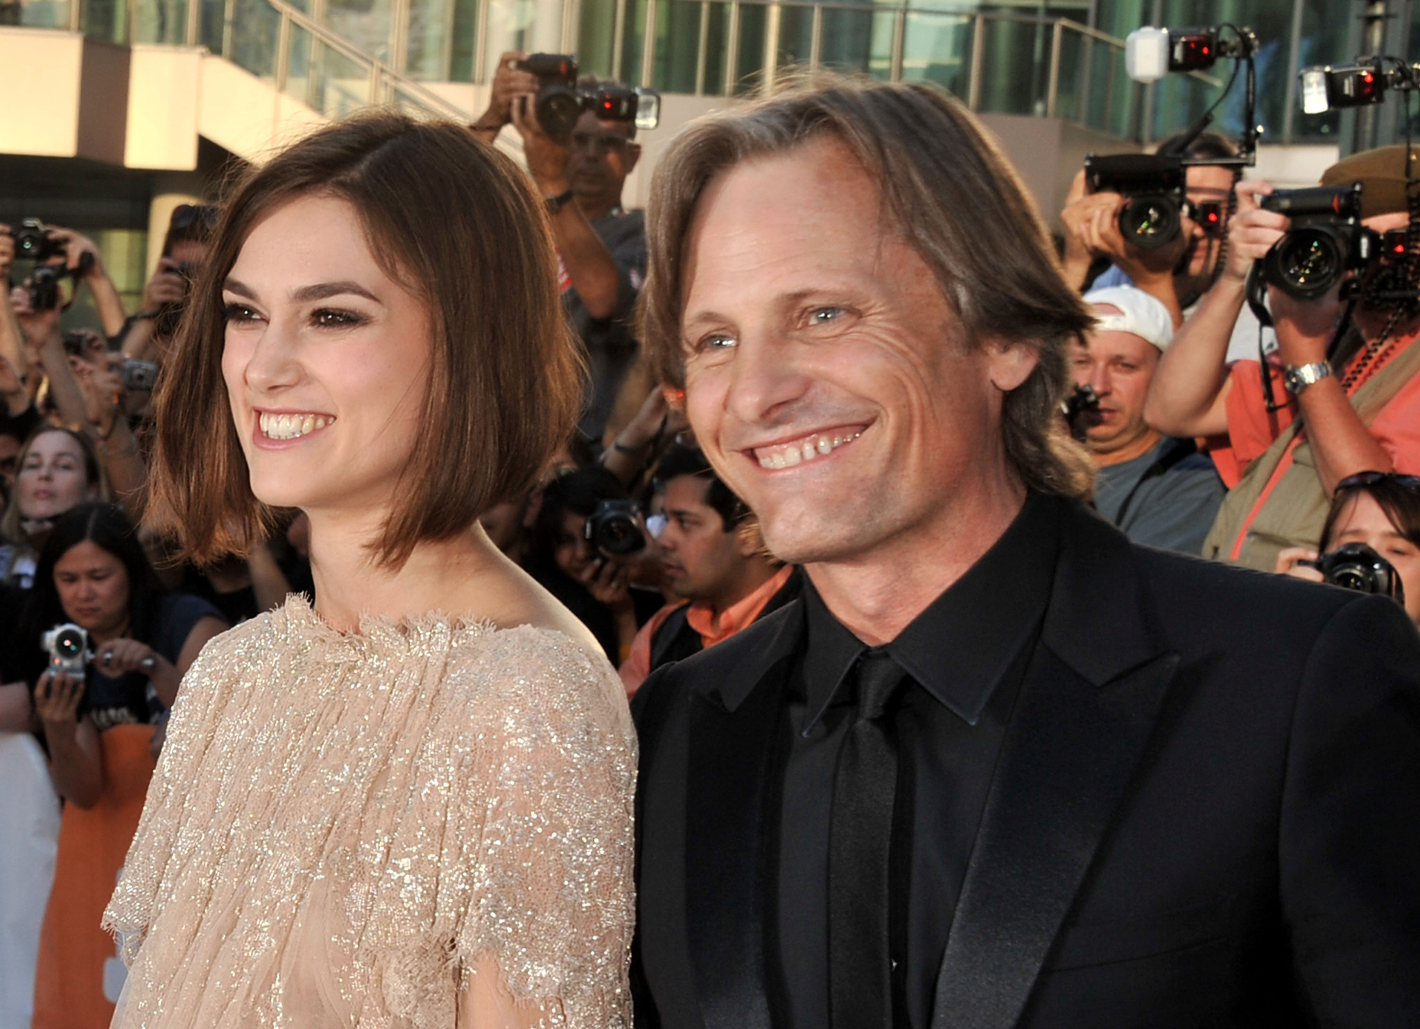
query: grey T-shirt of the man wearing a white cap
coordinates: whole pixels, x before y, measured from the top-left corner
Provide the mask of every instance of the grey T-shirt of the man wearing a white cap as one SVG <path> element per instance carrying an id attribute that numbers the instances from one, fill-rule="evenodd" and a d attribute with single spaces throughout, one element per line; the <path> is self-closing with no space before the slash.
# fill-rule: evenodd
<path id="1" fill-rule="evenodd" d="M 1136 544 L 1200 555 L 1225 493 L 1191 440 L 1166 436 L 1147 454 L 1099 470 L 1095 508 Z"/>

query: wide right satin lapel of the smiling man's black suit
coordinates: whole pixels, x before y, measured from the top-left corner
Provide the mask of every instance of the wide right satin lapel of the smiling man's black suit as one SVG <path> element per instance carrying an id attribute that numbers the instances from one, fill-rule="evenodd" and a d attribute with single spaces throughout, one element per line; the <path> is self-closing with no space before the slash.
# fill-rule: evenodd
<path id="1" fill-rule="evenodd" d="M 1156 643 L 1123 536 L 1081 511 L 1066 522 L 943 955 L 933 1029 L 1017 1025 L 1179 663 Z"/>

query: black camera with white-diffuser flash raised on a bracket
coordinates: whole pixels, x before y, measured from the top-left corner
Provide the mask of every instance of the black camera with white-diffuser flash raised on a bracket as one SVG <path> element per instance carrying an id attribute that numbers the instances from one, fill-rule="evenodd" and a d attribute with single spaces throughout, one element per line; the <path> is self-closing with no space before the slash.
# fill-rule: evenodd
<path id="1" fill-rule="evenodd" d="M 1231 28 L 1233 37 L 1223 37 L 1218 28 L 1137 28 L 1125 41 L 1125 67 L 1129 77 L 1153 82 L 1170 71 L 1203 71 L 1220 58 L 1233 58 L 1247 68 L 1247 97 L 1242 139 L 1235 158 L 1207 158 L 1193 160 L 1183 156 L 1213 121 L 1208 108 L 1187 132 L 1181 145 L 1170 153 L 1116 153 L 1085 158 L 1085 180 L 1092 193 L 1113 192 L 1125 197 L 1119 211 L 1119 231 L 1125 240 L 1143 250 L 1157 250 L 1179 238 L 1181 217 L 1187 216 L 1206 229 L 1221 229 L 1227 211 L 1217 202 L 1191 204 L 1187 199 L 1187 169 L 1193 165 L 1218 167 L 1247 167 L 1255 160 L 1257 126 L 1257 35 L 1251 28 Z M 1237 71 L 1234 70 L 1234 75 Z M 1231 85 L 1231 79 L 1230 79 Z"/>

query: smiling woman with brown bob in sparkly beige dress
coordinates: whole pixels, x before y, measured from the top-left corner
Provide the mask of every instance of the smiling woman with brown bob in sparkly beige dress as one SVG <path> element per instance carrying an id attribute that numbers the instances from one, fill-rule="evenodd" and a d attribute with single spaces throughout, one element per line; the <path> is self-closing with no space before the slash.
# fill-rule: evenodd
<path id="1" fill-rule="evenodd" d="M 105 915 L 115 1026 L 629 1025 L 621 681 L 477 524 L 582 389 L 544 204 L 464 128 L 358 116 L 223 206 L 155 521 L 206 563 L 301 510 L 315 606 L 183 684 Z"/>

